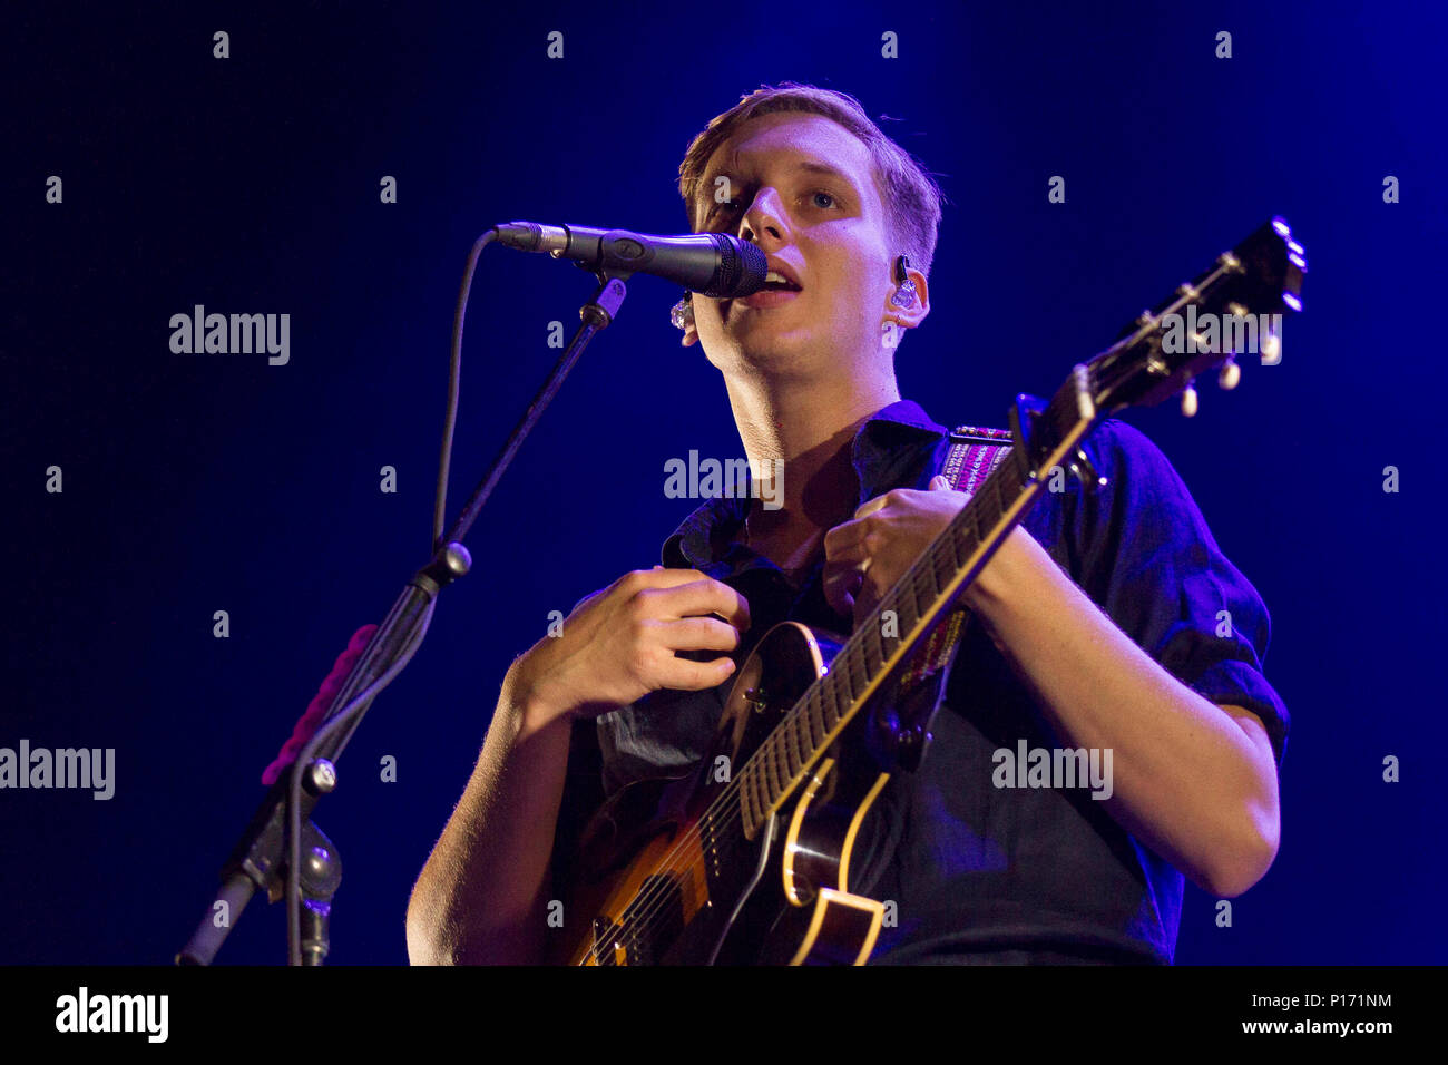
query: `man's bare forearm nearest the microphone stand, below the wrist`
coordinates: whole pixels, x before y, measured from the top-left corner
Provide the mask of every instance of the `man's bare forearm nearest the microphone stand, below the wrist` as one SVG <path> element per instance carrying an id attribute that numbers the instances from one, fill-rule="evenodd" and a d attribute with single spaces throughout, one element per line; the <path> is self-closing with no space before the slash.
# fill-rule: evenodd
<path id="1" fill-rule="evenodd" d="M 569 723 L 517 691 L 510 671 L 468 787 L 413 888 L 414 964 L 542 961 L 553 829 Z"/>

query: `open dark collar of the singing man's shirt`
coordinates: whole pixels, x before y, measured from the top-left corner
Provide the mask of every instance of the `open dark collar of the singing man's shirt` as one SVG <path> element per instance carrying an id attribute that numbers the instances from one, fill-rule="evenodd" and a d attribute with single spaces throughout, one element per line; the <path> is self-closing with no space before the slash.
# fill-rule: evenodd
<path id="1" fill-rule="evenodd" d="M 860 483 L 859 503 L 895 487 L 927 442 L 938 445 L 948 435 L 950 430 L 912 400 L 896 400 L 870 414 L 850 442 L 850 461 Z M 747 513 L 747 496 L 705 500 L 663 542 L 660 561 L 670 568 L 733 569 L 728 545 Z"/>

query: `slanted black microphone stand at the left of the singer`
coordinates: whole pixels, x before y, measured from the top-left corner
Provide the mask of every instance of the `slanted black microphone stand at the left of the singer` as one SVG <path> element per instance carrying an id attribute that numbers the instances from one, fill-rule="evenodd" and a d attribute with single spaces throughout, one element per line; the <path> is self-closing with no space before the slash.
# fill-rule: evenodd
<path id="1" fill-rule="evenodd" d="M 463 281 L 463 304 L 472 285 L 472 270 L 478 255 L 495 236 L 497 230 L 488 230 L 473 246 Z M 472 559 L 462 540 L 478 519 L 478 513 L 513 464 L 513 458 L 543 410 L 557 394 L 584 348 L 618 314 L 628 294 L 624 281 L 633 271 L 604 267 L 589 272 L 598 278 L 599 287 L 594 297 L 579 307 L 578 316 L 582 325 L 502 445 L 502 451 L 478 483 L 452 529 L 433 545 L 432 561 L 413 575 L 392 603 L 387 619 L 372 635 L 337 691 L 321 727 L 256 809 L 222 866 L 222 887 L 216 898 L 191 939 L 177 953 L 177 965 L 210 965 L 236 917 L 256 891 L 265 891 L 268 901 L 272 903 L 282 895 L 287 897 L 288 964 L 321 965 L 326 958 L 330 949 L 332 897 L 342 881 L 342 861 L 332 840 L 313 824 L 311 811 L 321 795 L 336 787 L 336 761 L 362 723 L 372 700 L 401 672 L 421 645 L 437 593 L 471 568 Z M 462 307 L 459 307 L 455 355 L 460 352 L 460 313 Z M 446 478 L 446 471 L 443 477 Z"/>

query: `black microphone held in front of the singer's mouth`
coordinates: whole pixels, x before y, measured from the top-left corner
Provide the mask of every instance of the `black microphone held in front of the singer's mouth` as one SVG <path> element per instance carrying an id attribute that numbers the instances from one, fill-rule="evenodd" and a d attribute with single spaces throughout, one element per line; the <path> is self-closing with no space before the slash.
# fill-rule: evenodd
<path id="1" fill-rule="evenodd" d="M 540 226 L 536 222 L 508 222 L 492 230 L 498 243 L 523 252 L 547 252 L 591 271 L 653 274 L 725 300 L 757 293 L 769 272 L 765 252 L 725 233 L 650 236 L 627 229 Z"/>

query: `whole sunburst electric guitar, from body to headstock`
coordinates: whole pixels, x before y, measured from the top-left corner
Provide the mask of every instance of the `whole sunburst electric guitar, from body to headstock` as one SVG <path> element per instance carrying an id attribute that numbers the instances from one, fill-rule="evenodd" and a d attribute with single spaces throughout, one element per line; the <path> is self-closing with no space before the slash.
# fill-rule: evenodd
<path id="1" fill-rule="evenodd" d="M 864 964 L 883 904 L 851 891 L 850 852 L 891 772 L 918 767 L 930 740 L 933 709 L 898 713 L 902 664 L 1050 477 L 1099 481 L 1080 443 L 1102 419 L 1177 393 L 1192 414 L 1197 374 L 1219 367 L 1232 388 L 1244 351 L 1280 361 L 1306 270 L 1273 219 L 1074 367 L 1048 403 L 1018 397 L 1005 459 L 851 636 L 770 629 L 696 771 L 626 787 L 589 822 L 555 961 Z"/>

